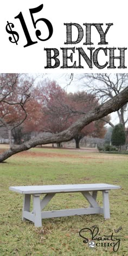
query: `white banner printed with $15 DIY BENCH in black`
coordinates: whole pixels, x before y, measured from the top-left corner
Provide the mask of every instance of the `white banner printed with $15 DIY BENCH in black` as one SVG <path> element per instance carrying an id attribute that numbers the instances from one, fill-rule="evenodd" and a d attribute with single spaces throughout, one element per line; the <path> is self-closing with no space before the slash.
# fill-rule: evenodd
<path id="1" fill-rule="evenodd" d="M 1 73 L 127 73 L 127 5 L 3 1 Z"/>

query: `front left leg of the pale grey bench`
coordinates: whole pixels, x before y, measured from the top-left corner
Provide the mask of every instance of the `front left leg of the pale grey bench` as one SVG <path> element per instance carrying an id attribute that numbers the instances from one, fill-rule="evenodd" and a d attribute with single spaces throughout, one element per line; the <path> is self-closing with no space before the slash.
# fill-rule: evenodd
<path id="1" fill-rule="evenodd" d="M 42 227 L 40 195 L 33 195 L 33 214 L 35 227 Z"/>

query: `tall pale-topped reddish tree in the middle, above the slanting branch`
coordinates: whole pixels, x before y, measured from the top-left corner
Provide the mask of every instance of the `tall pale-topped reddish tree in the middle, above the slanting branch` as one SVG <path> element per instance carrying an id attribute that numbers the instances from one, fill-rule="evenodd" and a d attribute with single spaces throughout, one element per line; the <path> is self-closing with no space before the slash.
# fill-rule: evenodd
<path id="1" fill-rule="evenodd" d="M 36 88 L 37 100 L 42 105 L 40 131 L 58 133 L 68 127 L 67 93 L 55 81 L 46 80 Z M 57 143 L 60 147 L 61 143 Z"/>

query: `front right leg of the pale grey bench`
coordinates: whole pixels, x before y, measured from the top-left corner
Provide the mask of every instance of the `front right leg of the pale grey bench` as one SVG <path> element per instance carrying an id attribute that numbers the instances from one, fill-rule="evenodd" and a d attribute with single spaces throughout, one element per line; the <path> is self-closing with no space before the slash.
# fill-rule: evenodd
<path id="1" fill-rule="evenodd" d="M 110 219 L 110 203 L 108 197 L 108 190 L 103 191 L 103 211 L 104 219 Z"/>

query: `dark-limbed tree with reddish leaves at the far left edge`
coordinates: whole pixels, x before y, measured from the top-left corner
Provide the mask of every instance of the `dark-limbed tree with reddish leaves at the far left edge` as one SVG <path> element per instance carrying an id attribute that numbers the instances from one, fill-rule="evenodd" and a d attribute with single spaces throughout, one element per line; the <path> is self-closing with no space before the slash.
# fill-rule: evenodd
<path id="1" fill-rule="evenodd" d="M 0 74 L 0 126 L 8 131 L 11 146 L 12 130 L 27 118 L 32 82 L 23 74 Z"/>

